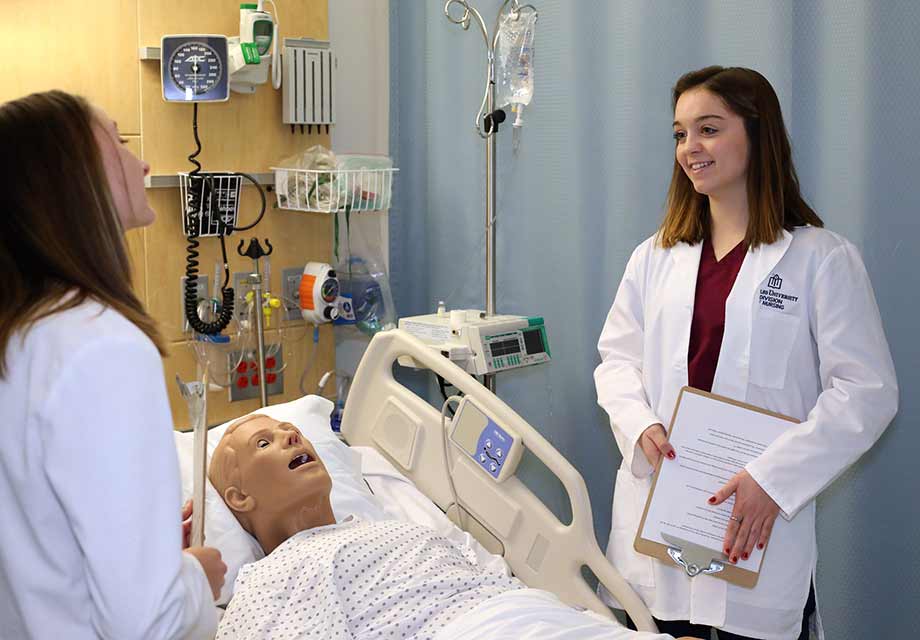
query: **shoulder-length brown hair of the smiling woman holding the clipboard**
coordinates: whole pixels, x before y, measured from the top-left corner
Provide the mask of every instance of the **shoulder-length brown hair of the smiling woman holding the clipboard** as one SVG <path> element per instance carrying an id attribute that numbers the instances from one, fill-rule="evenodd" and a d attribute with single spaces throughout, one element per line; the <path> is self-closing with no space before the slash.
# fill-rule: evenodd
<path id="1" fill-rule="evenodd" d="M 792 165 L 792 146 L 783 124 L 783 113 L 773 87 L 762 75 L 742 67 L 706 67 L 684 74 L 674 85 L 672 110 L 681 94 L 706 89 L 717 95 L 744 120 L 750 144 L 747 194 L 750 206 L 745 242 L 750 248 L 771 244 L 782 230 L 810 224 L 823 227 L 818 214 L 799 190 Z M 693 188 L 690 178 L 674 159 L 667 211 L 658 229 L 658 242 L 673 247 L 679 242 L 696 244 L 709 234 L 709 198 Z"/>

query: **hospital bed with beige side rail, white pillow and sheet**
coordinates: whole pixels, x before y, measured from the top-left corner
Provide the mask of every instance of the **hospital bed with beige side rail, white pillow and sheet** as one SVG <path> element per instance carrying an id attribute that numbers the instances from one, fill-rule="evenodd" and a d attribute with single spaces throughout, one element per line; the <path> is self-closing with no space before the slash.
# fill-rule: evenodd
<path id="1" fill-rule="evenodd" d="M 571 522 L 560 522 L 515 475 L 502 482 L 495 481 L 464 451 L 446 440 L 442 412 L 394 378 L 394 366 L 401 356 L 408 356 L 440 375 L 474 401 L 496 424 L 521 436 L 526 449 L 565 487 L 571 502 Z M 325 409 L 319 407 L 319 403 L 325 403 Z M 305 417 L 305 406 L 318 406 L 318 413 L 325 410 L 325 416 L 311 414 Z M 447 358 L 406 332 L 378 333 L 358 366 L 346 403 L 341 436 L 349 447 L 330 441 L 334 440 L 326 427 L 330 406 L 324 399 L 307 396 L 285 405 L 266 407 L 257 413 L 294 422 L 314 441 L 333 477 L 334 508 L 338 503 L 346 505 L 341 507 L 342 513 L 346 509 L 358 513 L 373 511 L 363 506 L 363 498 L 357 490 L 349 488 L 347 478 L 340 482 L 340 478 L 348 475 L 345 469 L 350 463 L 339 460 L 347 451 L 360 461 L 357 466 L 363 471 L 362 480 L 375 497 L 383 501 L 385 515 L 426 524 L 439 532 L 444 531 L 445 535 L 450 535 L 447 529 L 459 533 L 454 526 L 457 525 L 473 536 L 484 550 L 502 557 L 512 573 L 528 587 L 549 591 L 568 605 L 613 619 L 610 609 L 583 577 L 582 568 L 588 567 L 640 630 L 656 631 L 644 603 L 598 547 L 581 475 L 517 413 Z M 209 435 L 209 452 L 213 452 L 221 433 L 222 429 L 217 428 Z M 187 435 L 177 435 L 185 494 L 191 491 L 192 475 L 189 460 L 192 445 Z M 447 469 L 453 477 L 453 489 Z M 454 495 L 461 505 L 462 515 Z M 227 524 L 228 528 L 236 526 L 212 487 L 209 487 L 206 507 L 209 521 L 206 529 L 220 526 L 220 523 Z M 448 522 L 442 512 L 447 513 L 454 524 Z M 368 517 L 376 516 L 370 514 Z M 251 561 L 261 555 L 253 539 L 241 542 L 240 536 L 232 531 L 208 530 L 206 544 L 221 549 L 225 559 L 255 554 L 250 556 Z M 243 548 L 247 545 L 248 548 Z M 482 553 L 488 555 L 484 550 Z M 225 585 L 222 594 L 224 601 L 229 598 L 228 590 L 232 586 L 229 572 L 228 583 L 231 584 Z"/>

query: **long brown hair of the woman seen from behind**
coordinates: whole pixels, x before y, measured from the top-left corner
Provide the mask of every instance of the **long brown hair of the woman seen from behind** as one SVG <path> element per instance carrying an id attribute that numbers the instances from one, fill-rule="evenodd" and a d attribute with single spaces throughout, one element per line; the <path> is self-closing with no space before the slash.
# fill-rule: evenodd
<path id="1" fill-rule="evenodd" d="M 85 99 L 62 91 L 0 105 L 0 378 L 15 335 L 87 298 L 121 313 L 165 354 L 131 289 L 94 119 Z"/>

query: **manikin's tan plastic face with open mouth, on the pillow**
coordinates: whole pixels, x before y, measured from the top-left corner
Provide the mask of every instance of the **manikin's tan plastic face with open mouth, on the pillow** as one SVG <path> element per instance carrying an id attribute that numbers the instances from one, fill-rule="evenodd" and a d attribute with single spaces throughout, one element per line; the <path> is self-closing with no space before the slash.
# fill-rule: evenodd
<path id="1" fill-rule="evenodd" d="M 231 509 L 252 507 L 265 514 L 285 515 L 319 504 L 332 490 L 332 479 L 313 445 L 288 422 L 263 415 L 244 419 L 224 437 L 215 460 L 225 444 L 234 451 L 241 492 L 230 498 L 225 492 Z M 254 504 L 246 503 L 248 498 Z M 237 499 L 242 502 L 234 504 Z"/>

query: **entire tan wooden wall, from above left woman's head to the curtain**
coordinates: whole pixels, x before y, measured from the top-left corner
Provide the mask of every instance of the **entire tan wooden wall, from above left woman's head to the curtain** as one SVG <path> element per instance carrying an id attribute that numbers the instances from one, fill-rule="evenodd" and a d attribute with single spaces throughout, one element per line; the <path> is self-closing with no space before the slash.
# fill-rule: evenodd
<path id="1" fill-rule="evenodd" d="M 281 37 L 328 38 L 328 0 L 276 0 L 281 13 Z M 170 174 L 192 168 L 187 156 L 194 150 L 192 107 L 166 104 L 160 91 L 158 61 L 140 61 L 138 48 L 159 46 L 170 33 L 222 33 L 238 35 L 239 2 L 231 0 L 100 0 L 87 4 L 77 0 L 3 0 L 0 23 L 0 101 L 33 91 L 60 88 L 85 95 L 105 109 L 126 134 L 132 151 L 150 163 L 152 173 Z M 23 49 L 23 43 L 30 46 Z M 253 95 L 231 94 L 226 103 L 204 104 L 199 110 L 199 132 L 204 150 L 199 156 L 205 170 L 236 170 L 263 173 L 282 158 L 314 144 L 330 145 L 329 136 L 292 134 L 281 123 L 281 91 L 269 84 Z M 133 285 L 141 301 L 161 326 L 170 349 L 164 374 L 170 403 L 179 426 L 188 425 L 185 403 L 179 398 L 175 376 L 196 376 L 195 361 L 185 344 L 181 327 L 180 278 L 185 273 L 186 241 L 179 223 L 178 189 L 148 189 L 157 212 L 156 221 L 145 229 L 128 232 L 127 244 L 133 268 Z M 269 197 L 269 210 L 261 224 L 232 237 L 228 243 L 233 271 L 249 271 L 251 261 L 236 255 L 240 238 L 254 234 L 269 238 L 275 246 L 271 258 L 269 288 L 280 292 L 281 271 L 310 260 L 331 258 L 332 217 L 276 210 Z M 244 188 L 241 222 L 258 212 L 258 196 Z M 220 258 L 217 239 L 201 241 L 201 273 L 213 278 L 214 262 Z M 285 393 L 271 402 L 300 395 L 298 381 L 303 370 L 308 332 L 302 322 L 280 325 L 286 339 Z M 277 339 L 273 324 L 269 341 Z M 293 341 L 291 336 L 300 336 Z M 323 336 L 315 371 L 316 379 L 335 362 L 331 327 Z M 209 396 L 209 422 L 216 423 L 256 408 L 257 400 L 230 404 L 227 392 Z"/>

